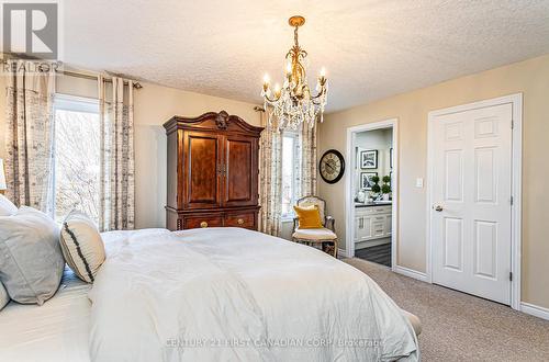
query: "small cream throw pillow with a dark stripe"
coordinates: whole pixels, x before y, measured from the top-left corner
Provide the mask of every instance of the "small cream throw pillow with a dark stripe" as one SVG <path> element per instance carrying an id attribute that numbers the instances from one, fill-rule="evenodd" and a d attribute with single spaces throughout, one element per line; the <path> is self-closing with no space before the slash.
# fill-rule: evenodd
<path id="1" fill-rule="evenodd" d="M 104 244 L 96 224 L 85 214 L 72 211 L 61 226 L 61 250 L 75 274 L 93 283 L 105 259 Z"/>

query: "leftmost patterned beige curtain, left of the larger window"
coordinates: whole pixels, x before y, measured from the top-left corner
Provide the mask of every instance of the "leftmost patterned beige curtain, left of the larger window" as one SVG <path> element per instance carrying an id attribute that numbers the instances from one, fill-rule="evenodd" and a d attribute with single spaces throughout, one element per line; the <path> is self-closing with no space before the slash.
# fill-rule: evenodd
<path id="1" fill-rule="evenodd" d="M 53 216 L 53 67 L 9 60 L 7 82 L 7 197 Z M 31 71 L 32 69 L 32 71 Z"/>

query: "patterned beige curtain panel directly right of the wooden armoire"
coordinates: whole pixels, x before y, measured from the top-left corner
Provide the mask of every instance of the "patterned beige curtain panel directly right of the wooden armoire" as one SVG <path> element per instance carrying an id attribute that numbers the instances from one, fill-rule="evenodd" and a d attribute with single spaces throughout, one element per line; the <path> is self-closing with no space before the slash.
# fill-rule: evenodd
<path id="1" fill-rule="evenodd" d="M 282 137 L 277 125 L 271 125 L 261 112 L 259 139 L 259 230 L 280 235 L 282 214 Z"/>

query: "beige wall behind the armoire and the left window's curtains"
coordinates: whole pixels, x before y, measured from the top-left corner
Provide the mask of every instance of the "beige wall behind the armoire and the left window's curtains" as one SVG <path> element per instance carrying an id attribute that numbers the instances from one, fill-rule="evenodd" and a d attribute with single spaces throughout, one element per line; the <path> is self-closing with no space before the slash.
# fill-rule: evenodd
<path id="1" fill-rule="evenodd" d="M 0 77 L 4 91 L 5 79 Z M 93 80 L 59 77 L 57 91 L 96 97 Z M 173 115 L 198 116 L 221 110 L 236 114 L 253 125 L 259 125 L 256 104 L 232 101 L 152 83 L 134 92 L 135 123 L 135 225 L 137 228 L 165 227 L 166 204 L 166 135 L 163 124 Z M 5 97 L 0 97 L 0 158 L 5 154 Z"/>

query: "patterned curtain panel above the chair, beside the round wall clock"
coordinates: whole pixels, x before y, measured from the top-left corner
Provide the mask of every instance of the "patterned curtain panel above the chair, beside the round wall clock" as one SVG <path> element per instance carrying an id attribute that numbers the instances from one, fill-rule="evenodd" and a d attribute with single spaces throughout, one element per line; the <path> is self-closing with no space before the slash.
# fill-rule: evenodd
<path id="1" fill-rule="evenodd" d="M 311 127 L 304 122 L 300 129 L 299 147 L 300 182 L 298 183 L 298 195 L 300 197 L 316 195 L 316 122 Z"/>

